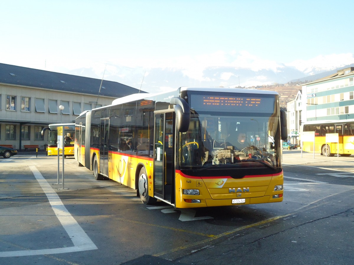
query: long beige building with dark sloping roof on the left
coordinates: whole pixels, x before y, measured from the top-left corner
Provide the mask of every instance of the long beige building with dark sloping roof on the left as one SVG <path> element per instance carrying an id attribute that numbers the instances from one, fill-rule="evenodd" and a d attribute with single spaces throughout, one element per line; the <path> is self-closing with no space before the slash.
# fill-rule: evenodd
<path id="1" fill-rule="evenodd" d="M 118 82 L 0 63 L 0 145 L 44 149 L 41 131 L 48 124 L 74 123 L 85 110 L 138 92 Z"/>

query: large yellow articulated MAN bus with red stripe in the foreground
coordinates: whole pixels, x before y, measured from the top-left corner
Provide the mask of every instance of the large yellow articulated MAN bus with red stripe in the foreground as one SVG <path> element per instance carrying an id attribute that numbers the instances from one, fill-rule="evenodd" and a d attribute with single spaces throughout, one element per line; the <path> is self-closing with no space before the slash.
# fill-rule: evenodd
<path id="1" fill-rule="evenodd" d="M 75 158 L 176 208 L 280 202 L 285 112 L 276 92 L 181 87 L 80 114 Z"/>

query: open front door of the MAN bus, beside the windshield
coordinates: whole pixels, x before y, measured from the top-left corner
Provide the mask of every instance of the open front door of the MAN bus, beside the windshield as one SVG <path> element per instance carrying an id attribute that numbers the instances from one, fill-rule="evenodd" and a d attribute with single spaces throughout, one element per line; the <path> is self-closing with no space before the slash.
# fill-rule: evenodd
<path id="1" fill-rule="evenodd" d="M 175 195 L 174 130 L 174 112 L 155 114 L 154 196 L 169 202 Z"/>

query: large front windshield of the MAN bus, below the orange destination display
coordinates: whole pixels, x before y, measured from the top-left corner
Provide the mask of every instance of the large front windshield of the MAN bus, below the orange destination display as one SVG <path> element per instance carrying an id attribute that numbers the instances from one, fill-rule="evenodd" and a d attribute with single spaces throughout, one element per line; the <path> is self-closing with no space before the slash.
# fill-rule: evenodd
<path id="1" fill-rule="evenodd" d="M 246 116 L 247 115 L 247 116 Z M 179 133 L 180 168 L 201 169 L 239 164 L 239 167 L 281 167 L 279 119 L 271 114 L 192 112 L 189 130 Z M 243 162 L 243 163 L 242 163 Z"/>

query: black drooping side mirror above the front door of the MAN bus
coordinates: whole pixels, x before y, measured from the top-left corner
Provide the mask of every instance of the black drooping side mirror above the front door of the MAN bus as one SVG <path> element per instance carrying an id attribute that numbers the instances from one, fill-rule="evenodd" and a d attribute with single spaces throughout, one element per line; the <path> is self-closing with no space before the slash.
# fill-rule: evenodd
<path id="1" fill-rule="evenodd" d="M 175 105 L 176 126 L 181 133 L 188 131 L 190 122 L 190 108 L 188 103 L 182 98 L 172 98 L 170 104 Z"/>

